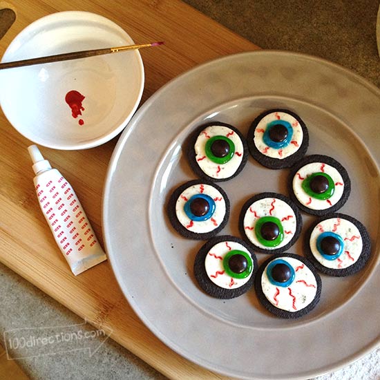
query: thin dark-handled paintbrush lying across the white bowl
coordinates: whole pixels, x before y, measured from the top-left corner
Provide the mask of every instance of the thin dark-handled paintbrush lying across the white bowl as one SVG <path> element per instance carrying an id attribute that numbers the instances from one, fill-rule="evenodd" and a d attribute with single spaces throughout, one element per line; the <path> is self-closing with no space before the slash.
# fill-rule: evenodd
<path id="1" fill-rule="evenodd" d="M 95 49 L 95 50 L 81 50 L 81 51 L 76 51 L 72 53 L 48 55 L 46 57 L 22 59 L 20 61 L 4 62 L 0 64 L 0 70 L 3 68 L 15 68 L 15 67 L 21 67 L 21 66 L 50 64 L 51 62 L 68 61 L 70 59 L 95 57 L 96 55 L 119 53 L 126 50 L 150 48 L 151 46 L 160 46 L 162 44 L 164 44 L 164 42 L 153 42 L 151 44 L 119 46 L 117 48 L 103 48 L 103 49 Z"/>

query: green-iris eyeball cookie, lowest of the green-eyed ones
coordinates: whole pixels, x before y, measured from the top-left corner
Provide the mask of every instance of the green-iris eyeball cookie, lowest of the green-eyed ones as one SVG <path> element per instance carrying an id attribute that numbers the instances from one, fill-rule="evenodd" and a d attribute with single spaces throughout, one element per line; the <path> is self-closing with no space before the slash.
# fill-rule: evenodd
<path id="1" fill-rule="evenodd" d="M 243 240 L 218 236 L 198 251 L 194 274 L 207 294 L 227 299 L 241 296 L 252 287 L 257 267 L 254 252 Z"/>

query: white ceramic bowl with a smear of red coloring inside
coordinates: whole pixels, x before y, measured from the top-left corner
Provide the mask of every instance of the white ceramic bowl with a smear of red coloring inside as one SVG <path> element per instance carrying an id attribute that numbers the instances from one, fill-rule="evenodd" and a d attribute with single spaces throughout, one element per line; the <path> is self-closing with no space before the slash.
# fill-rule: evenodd
<path id="1" fill-rule="evenodd" d="M 102 16 L 58 12 L 22 30 L 2 61 L 131 44 Z M 138 50 L 130 50 L 0 70 L 0 84 L 1 108 L 19 133 L 50 148 L 86 149 L 111 140 L 129 122 L 142 96 L 144 67 Z M 82 115 L 66 99 L 70 91 L 77 92 L 79 109 L 84 96 Z"/>

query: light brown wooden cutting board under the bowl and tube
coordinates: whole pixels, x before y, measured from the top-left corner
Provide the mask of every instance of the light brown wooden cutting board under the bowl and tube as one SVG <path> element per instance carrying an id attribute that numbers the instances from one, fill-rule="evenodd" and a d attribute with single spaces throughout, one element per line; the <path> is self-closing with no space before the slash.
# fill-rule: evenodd
<path id="1" fill-rule="evenodd" d="M 29 23 L 64 10 L 86 10 L 111 19 L 136 43 L 165 41 L 141 51 L 146 84 L 142 101 L 173 77 L 210 59 L 255 50 L 257 46 L 178 0 L 9 0 L 16 21 L 0 41 L 0 56 Z M 43 105 L 41 105 L 43 106 Z M 22 110 L 20 110 L 22 112 Z M 0 113 L 0 261 L 154 368 L 175 379 L 220 379 L 175 354 L 140 321 L 124 298 L 108 262 L 75 277 L 42 215 L 32 183 L 27 147 Z M 115 142 L 85 151 L 41 152 L 73 185 L 98 238 L 102 237 L 102 189 Z"/>

